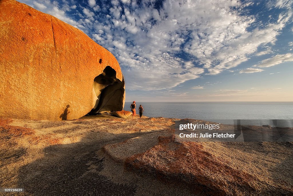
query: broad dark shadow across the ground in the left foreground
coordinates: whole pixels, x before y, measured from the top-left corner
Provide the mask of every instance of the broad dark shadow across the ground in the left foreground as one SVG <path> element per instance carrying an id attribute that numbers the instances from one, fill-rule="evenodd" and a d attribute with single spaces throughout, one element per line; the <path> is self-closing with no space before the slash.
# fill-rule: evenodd
<path id="1" fill-rule="evenodd" d="M 96 152 L 142 134 L 110 134 L 112 139 L 107 139 L 104 132 L 90 132 L 80 142 L 46 147 L 43 157 L 21 167 L 18 187 L 25 189 L 25 195 L 133 195 L 135 187 L 99 174 L 103 159 Z"/>

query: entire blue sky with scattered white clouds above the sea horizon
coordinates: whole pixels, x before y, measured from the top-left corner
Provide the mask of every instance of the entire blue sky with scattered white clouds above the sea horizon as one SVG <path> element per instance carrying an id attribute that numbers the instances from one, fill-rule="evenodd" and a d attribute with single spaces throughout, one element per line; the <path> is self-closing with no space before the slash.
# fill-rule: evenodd
<path id="1" fill-rule="evenodd" d="M 120 64 L 126 101 L 293 101 L 293 0 L 21 0 Z"/>

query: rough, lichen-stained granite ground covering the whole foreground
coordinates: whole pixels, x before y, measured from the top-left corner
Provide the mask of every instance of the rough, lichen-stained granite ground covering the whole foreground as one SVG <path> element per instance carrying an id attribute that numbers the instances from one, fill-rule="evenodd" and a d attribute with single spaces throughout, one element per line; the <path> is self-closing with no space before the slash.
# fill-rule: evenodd
<path id="1" fill-rule="evenodd" d="M 292 142 L 183 142 L 179 120 L 1 119 L 0 187 L 25 189 L 6 195 L 293 195 Z"/>

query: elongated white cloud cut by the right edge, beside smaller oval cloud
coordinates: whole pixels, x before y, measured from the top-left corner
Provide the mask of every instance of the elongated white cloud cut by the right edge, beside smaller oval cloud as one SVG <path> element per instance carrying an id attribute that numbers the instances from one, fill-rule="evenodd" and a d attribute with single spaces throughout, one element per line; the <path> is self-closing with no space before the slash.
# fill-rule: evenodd
<path id="1" fill-rule="evenodd" d="M 287 54 L 277 54 L 276 56 L 273 56 L 270 59 L 265 59 L 261 61 L 259 64 L 254 65 L 255 67 L 271 67 L 278 65 L 280 63 L 293 61 L 293 54 L 287 53 Z"/>

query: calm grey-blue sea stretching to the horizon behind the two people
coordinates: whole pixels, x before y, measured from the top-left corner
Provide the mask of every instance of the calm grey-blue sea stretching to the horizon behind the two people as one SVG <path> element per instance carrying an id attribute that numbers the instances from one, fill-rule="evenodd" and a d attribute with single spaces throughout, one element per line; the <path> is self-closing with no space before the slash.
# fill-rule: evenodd
<path id="1" fill-rule="evenodd" d="M 132 102 L 125 102 L 130 111 Z M 165 118 L 192 118 L 242 125 L 271 125 L 293 127 L 293 102 L 137 102 L 144 108 L 144 116 Z M 278 119 L 273 121 L 273 119 Z"/>

